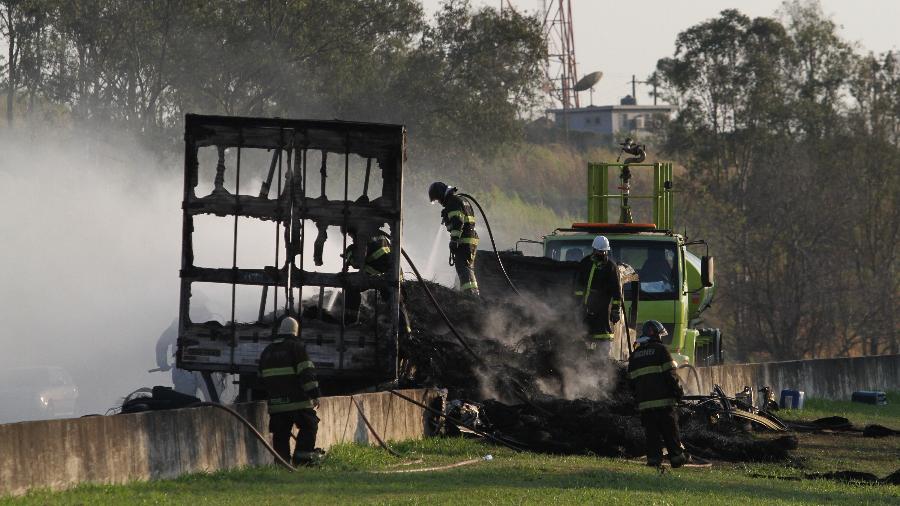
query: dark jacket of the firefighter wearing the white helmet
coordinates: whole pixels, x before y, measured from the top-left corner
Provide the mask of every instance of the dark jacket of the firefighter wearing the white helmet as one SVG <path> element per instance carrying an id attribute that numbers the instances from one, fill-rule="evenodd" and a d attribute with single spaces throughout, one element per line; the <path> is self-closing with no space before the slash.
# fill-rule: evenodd
<path id="1" fill-rule="evenodd" d="M 622 282 L 619 267 L 613 259 L 598 261 L 593 255 L 578 265 L 575 297 L 588 316 L 609 317 L 609 305 L 622 307 Z"/>

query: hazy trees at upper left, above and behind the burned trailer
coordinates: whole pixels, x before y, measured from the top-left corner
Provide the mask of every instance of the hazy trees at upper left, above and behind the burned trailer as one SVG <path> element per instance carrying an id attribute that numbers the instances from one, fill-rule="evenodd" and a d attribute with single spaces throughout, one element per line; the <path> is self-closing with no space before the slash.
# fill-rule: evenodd
<path id="1" fill-rule="evenodd" d="M 2 0 L 6 123 L 135 132 L 174 145 L 187 112 L 404 123 L 430 148 L 521 135 L 540 21 L 416 0 Z"/>

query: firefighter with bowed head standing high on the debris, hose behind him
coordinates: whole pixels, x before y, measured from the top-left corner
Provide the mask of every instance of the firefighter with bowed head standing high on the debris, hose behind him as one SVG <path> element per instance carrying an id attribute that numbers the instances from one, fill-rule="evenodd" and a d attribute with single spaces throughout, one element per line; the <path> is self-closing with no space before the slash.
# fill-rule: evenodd
<path id="1" fill-rule="evenodd" d="M 428 199 L 440 202 L 441 223 L 450 232 L 450 265 L 456 267 L 459 289 L 478 296 L 475 279 L 475 251 L 478 250 L 478 234 L 475 233 L 475 213 L 472 204 L 456 195 L 456 188 L 440 181 L 428 187 Z"/>

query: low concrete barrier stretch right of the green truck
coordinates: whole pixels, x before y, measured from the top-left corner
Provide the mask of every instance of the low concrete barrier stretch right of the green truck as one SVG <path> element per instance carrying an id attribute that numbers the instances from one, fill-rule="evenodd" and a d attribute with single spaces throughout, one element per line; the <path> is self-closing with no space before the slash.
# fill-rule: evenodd
<path id="1" fill-rule="evenodd" d="M 856 390 L 900 390 L 900 355 L 726 364 L 696 371 L 699 392 L 690 371 L 679 370 L 688 393 L 708 394 L 719 385 L 733 395 L 745 385 L 754 390 L 769 386 L 776 397 L 782 389 L 793 388 L 807 397 L 849 401 Z"/>

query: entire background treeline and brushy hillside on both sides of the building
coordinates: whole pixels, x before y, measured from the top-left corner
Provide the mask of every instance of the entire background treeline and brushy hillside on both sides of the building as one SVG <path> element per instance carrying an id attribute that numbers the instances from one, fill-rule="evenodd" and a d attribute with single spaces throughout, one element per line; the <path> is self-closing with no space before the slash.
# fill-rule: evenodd
<path id="1" fill-rule="evenodd" d="M 187 112 L 403 123 L 409 190 L 487 195 L 504 247 L 583 218 L 585 163 L 615 159 L 539 123 L 525 140 L 541 21 L 467 0 L 432 18 L 416 0 L 0 0 L 0 36 L 0 125 L 115 129 L 177 156 Z M 684 169 L 677 223 L 718 256 L 708 323 L 731 357 L 900 352 L 897 57 L 795 1 L 688 28 L 651 80 L 677 114 L 642 141 Z"/>

